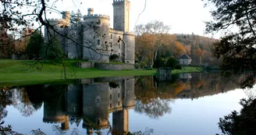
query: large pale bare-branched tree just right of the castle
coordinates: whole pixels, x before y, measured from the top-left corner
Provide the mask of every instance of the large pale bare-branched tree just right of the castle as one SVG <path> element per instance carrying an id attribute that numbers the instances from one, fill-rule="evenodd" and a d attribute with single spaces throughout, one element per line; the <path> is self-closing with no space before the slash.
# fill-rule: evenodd
<path id="1" fill-rule="evenodd" d="M 151 48 L 151 65 L 154 65 L 154 61 L 158 55 L 158 49 L 162 46 L 163 41 L 169 32 L 170 27 L 163 22 L 154 20 L 145 25 L 140 24 L 135 27 L 135 34 L 137 36 L 150 36 L 148 40 L 148 46 Z"/>

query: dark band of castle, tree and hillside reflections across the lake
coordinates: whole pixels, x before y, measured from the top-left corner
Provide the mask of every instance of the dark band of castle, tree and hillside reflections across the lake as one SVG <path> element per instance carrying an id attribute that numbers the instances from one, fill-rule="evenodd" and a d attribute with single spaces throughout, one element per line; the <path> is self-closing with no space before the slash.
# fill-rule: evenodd
<path id="1" fill-rule="evenodd" d="M 240 87 L 239 80 L 241 76 L 222 78 L 219 73 L 183 73 L 166 79 L 158 76 L 103 77 L 73 80 L 71 84 L 9 87 L 9 92 L 13 93 L 9 99 L 19 97 L 15 95 L 20 91 L 20 98 L 29 98 L 20 99 L 20 102 L 29 101 L 36 109 L 44 103 L 43 122 L 61 123 L 61 130 L 69 130 L 69 124 L 73 123 L 79 126 L 83 121 L 87 134 L 108 129 L 113 135 L 119 135 L 129 132 L 130 108 L 152 119 L 158 118 L 171 113 L 171 100 L 193 100 L 231 91 Z M 157 101 L 158 104 L 153 104 Z M 15 102 L 17 100 L 9 101 L 9 105 L 15 106 Z M 110 113 L 112 119 L 109 119 Z"/>

